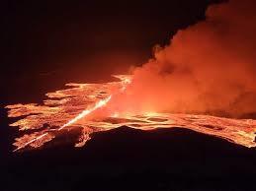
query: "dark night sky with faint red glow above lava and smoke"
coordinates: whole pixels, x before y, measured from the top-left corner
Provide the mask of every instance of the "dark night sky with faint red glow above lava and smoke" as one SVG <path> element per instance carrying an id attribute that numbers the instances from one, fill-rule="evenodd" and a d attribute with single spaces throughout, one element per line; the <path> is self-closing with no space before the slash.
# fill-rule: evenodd
<path id="1" fill-rule="evenodd" d="M 65 83 L 127 73 L 152 57 L 154 45 L 203 20 L 213 2 L 6 1 L 1 80 L 8 86 L 2 96 L 37 101 Z"/>

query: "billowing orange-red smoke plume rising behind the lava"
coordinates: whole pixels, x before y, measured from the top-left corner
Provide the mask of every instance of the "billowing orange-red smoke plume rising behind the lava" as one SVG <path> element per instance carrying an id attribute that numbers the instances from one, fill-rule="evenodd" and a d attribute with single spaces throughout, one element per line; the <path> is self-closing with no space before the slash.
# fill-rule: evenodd
<path id="1" fill-rule="evenodd" d="M 212 5 L 206 21 L 176 33 L 133 70 L 119 108 L 225 113 L 256 111 L 256 2 Z M 123 106 L 121 106 L 123 105 Z"/>

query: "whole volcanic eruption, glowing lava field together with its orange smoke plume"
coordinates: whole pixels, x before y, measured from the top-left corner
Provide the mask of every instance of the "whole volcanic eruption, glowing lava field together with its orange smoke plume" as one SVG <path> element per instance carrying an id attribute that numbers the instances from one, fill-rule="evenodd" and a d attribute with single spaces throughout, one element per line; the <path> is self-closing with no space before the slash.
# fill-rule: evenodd
<path id="1" fill-rule="evenodd" d="M 236 119 L 256 113 L 255 8 L 254 0 L 211 5 L 205 21 L 177 32 L 170 44 L 155 48 L 153 59 L 135 67 L 132 82 L 120 75 L 119 82 L 67 84 L 46 94 L 43 105 L 6 106 L 9 117 L 21 117 L 11 124 L 21 132 L 15 151 L 39 148 L 64 130 L 77 132 L 75 146 L 81 147 L 90 134 L 124 125 L 188 128 L 255 147 L 256 120 Z M 186 114 L 214 111 L 233 118 Z"/>

